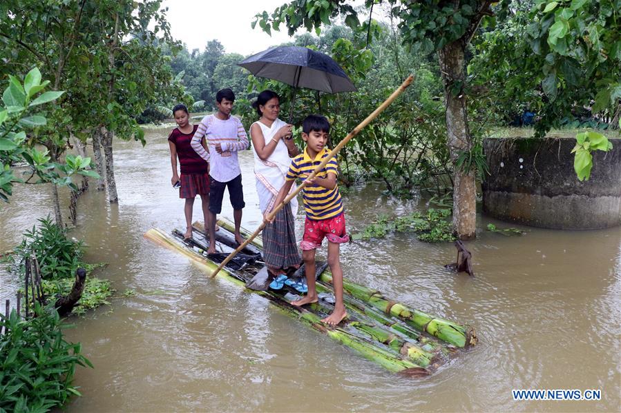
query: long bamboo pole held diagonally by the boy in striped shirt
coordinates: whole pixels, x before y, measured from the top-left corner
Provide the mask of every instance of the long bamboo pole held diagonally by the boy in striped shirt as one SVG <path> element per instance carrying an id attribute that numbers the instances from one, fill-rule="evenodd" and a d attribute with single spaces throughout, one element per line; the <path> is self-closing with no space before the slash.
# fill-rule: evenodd
<path id="1" fill-rule="evenodd" d="M 294 192 L 292 192 L 291 194 L 287 195 L 287 197 L 283 200 L 282 203 L 280 203 L 280 205 L 276 205 L 276 208 L 274 208 L 274 210 L 272 210 L 269 213 L 268 220 L 269 219 L 274 219 L 274 216 L 276 216 L 276 213 L 278 213 L 278 211 L 280 211 L 285 205 L 287 205 L 287 203 L 289 201 L 294 199 L 297 196 L 298 192 L 300 192 L 305 187 L 306 183 L 310 179 L 313 179 L 315 177 L 315 175 L 317 174 L 317 172 L 321 171 L 323 169 L 323 167 L 325 167 L 325 165 L 327 165 L 328 161 L 330 159 L 332 159 L 334 157 L 334 155 L 336 155 L 341 149 L 343 149 L 343 146 L 347 145 L 347 142 L 349 142 L 353 137 L 355 137 L 357 134 L 359 134 L 360 131 L 363 130 L 363 128 L 365 128 L 366 125 L 371 123 L 376 117 L 378 117 L 378 115 L 381 112 L 383 112 L 386 108 L 388 108 L 390 103 L 392 103 L 394 101 L 394 99 L 397 99 L 397 97 L 399 97 L 399 95 L 401 93 L 403 93 L 403 90 L 405 90 L 406 88 L 408 88 L 408 86 L 410 84 L 412 84 L 413 80 L 414 80 L 414 76 L 412 76 L 412 74 L 410 74 L 410 76 L 408 76 L 408 79 L 405 79 L 405 81 L 403 81 L 403 83 L 401 83 L 401 86 L 399 86 L 399 88 L 394 90 L 394 92 L 392 92 L 390 97 L 388 97 L 388 99 L 386 99 L 384 101 L 384 103 L 379 105 L 376 108 L 376 110 L 374 110 L 369 116 L 366 117 L 365 120 L 363 120 L 358 126 L 356 126 L 356 128 L 354 128 L 354 130 L 352 130 L 352 132 L 347 134 L 345 139 L 343 139 L 341 142 L 339 142 L 338 145 L 336 145 L 334 147 L 334 149 L 331 150 L 329 152 L 329 154 L 327 154 L 327 157 L 323 158 L 323 161 L 321 161 L 321 163 L 307 177 L 307 179 L 305 179 L 305 181 L 303 181 L 303 183 L 300 186 L 298 186 L 298 188 Z M 256 231 L 248 239 L 246 239 L 246 241 L 244 241 L 244 243 L 242 243 L 242 245 L 240 245 L 235 251 L 231 252 L 231 254 L 229 254 L 229 256 L 227 256 L 227 258 L 224 259 L 224 261 L 222 261 L 222 263 L 220 263 L 220 265 L 218 265 L 218 268 L 216 268 L 216 271 L 214 271 L 213 274 L 211 274 L 211 278 L 216 276 L 216 274 L 218 274 L 218 272 L 220 272 L 220 270 L 222 270 L 222 268 L 224 268 L 224 265 L 227 265 L 227 263 L 229 261 L 231 261 L 231 259 L 233 259 L 233 256 L 236 256 L 236 254 L 238 252 L 243 250 L 245 248 L 245 246 L 248 245 L 252 241 L 252 239 L 254 239 L 254 237 L 257 236 L 263 230 L 264 227 L 265 227 L 265 220 L 261 223 L 261 225 L 259 225 L 259 228 L 257 228 Z"/>

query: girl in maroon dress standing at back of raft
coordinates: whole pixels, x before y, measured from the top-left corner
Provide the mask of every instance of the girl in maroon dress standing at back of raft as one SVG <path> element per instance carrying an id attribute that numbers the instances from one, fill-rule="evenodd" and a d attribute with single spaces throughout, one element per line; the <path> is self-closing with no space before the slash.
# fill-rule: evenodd
<path id="1" fill-rule="evenodd" d="M 190 146 L 194 132 L 198 125 L 189 122 L 188 108 L 179 104 L 173 108 L 173 116 L 177 123 L 177 128 L 169 134 L 168 141 L 171 148 L 171 165 L 173 167 L 173 177 L 171 183 L 175 188 L 179 188 L 179 197 L 185 199 L 185 237 L 192 237 L 192 210 L 194 198 L 200 195 L 202 201 L 202 213 L 205 228 L 209 228 L 209 163 L 205 162 Z M 205 139 L 202 145 L 209 152 Z M 181 165 L 181 175 L 177 174 L 177 159 Z"/>

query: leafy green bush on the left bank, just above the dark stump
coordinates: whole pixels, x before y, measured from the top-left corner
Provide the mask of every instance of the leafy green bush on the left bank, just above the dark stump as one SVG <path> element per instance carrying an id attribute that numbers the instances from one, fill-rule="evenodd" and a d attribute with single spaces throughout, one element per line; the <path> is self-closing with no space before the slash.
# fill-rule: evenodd
<path id="1" fill-rule="evenodd" d="M 68 278 L 73 281 L 77 268 L 84 266 L 82 241 L 68 239 L 67 230 L 59 228 L 49 217 L 39 219 L 39 228 L 33 226 L 32 230 L 24 232 L 21 243 L 3 257 L 3 261 L 10 263 L 21 274 L 25 274 L 23 259 L 32 258 L 33 253 L 39 261 L 41 279 Z"/>

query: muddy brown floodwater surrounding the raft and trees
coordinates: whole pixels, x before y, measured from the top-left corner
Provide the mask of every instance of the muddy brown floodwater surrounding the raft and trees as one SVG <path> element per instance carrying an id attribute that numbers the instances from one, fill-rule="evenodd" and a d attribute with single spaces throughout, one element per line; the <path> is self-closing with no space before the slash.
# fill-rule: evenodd
<path id="1" fill-rule="evenodd" d="M 443 269 L 455 261 L 450 243 L 394 234 L 344 245 L 347 278 L 477 330 L 472 350 L 431 376 L 406 378 L 142 238 L 149 228 L 184 225 L 170 185 L 168 131 L 149 130 L 144 148 L 115 143 L 118 205 L 93 191 L 79 200 L 71 235 L 88 244 L 88 261 L 108 263 L 97 275 L 111 279 L 117 298 L 67 330 L 95 365 L 77 370 L 84 396 L 68 412 L 621 410 L 621 228 L 520 227 L 524 236 L 502 236 L 483 229 L 510 224 L 479 216 L 478 238 L 466 243 L 474 278 Z M 261 216 L 251 152 L 240 159 L 242 223 L 254 230 Z M 49 200 L 42 186 L 16 188 L 0 207 L 0 251 L 50 212 Z M 372 186 L 352 190 L 344 203 L 350 230 L 379 212 L 424 207 Z M 223 214 L 232 216 L 227 200 Z M 0 298 L 11 296 L 15 281 L 0 272 L 0 283 Z M 126 290 L 135 296 L 124 297 Z M 601 400 L 515 401 L 513 389 L 593 389 Z"/>

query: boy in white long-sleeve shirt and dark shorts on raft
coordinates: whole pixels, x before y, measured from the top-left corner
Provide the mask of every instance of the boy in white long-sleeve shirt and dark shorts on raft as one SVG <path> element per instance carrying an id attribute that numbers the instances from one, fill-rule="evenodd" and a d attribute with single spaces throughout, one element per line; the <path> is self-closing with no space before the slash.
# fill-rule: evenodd
<path id="1" fill-rule="evenodd" d="M 239 167 L 237 152 L 249 146 L 248 137 L 242 122 L 231 116 L 235 94 L 229 88 L 218 90 L 216 106 L 218 112 L 209 114 L 200 121 L 198 130 L 192 138 L 192 148 L 202 159 L 209 162 L 209 249 L 208 254 L 216 252 L 216 214 L 222 212 L 224 188 L 229 188 L 229 198 L 233 205 L 235 220 L 235 241 L 242 244 L 245 240 L 240 235 L 244 192 L 242 190 L 242 171 Z M 200 139 L 207 137 L 210 150 L 207 152 L 200 145 Z M 212 150 L 213 149 L 213 150 Z"/>

